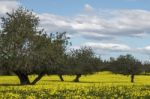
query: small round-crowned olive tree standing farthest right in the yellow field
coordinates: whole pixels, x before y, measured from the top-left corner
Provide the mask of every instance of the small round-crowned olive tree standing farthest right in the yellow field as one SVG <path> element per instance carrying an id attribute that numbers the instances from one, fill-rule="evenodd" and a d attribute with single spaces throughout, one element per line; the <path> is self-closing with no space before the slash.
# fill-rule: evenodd
<path id="1" fill-rule="evenodd" d="M 134 82 L 134 76 L 142 72 L 142 64 L 132 55 L 120 55 L 118 58 L 111 58 L 108 70 L 123 75 L 131 75 L 131 82 Z"/>

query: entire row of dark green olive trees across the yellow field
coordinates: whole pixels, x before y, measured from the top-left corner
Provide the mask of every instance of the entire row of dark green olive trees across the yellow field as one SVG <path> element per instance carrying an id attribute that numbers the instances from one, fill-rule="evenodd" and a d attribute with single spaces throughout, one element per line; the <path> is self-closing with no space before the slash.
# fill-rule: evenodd
<path id="1" fill-rule="evenodd" d="M 0 31 L 0 71 L 18 76 L 20 84 L 35 84 L 44 75 L 76 75 L 79 82 L 81 75 L 100 71 L 111 71 L 124 75 L 150 72 L 150 63 L 142 64 L 132 55 L 121 55 L 102 61 L 89 47 L 72 49 L 66 33 L 46 33 L 40 29 L 39 18 L 34 13 L 18 8 L 2 17 Z M 28 75 L 38 75 L 30 82 Z"/>

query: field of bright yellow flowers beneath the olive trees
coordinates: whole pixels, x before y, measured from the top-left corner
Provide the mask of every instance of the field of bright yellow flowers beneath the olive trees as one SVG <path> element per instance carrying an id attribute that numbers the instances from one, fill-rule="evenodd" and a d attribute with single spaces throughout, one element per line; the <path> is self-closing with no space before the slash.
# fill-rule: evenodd
<path id="1" fill-rule="evenodd" d="M 35 76 L 30 76 L 32 80 Z M 36 85 L 20 86 L 16 76 L 0 76 L 0 99 L 150 99 L 150 76 L 130 77 L 109 72 L 82 76 L 45 76 Z"/>

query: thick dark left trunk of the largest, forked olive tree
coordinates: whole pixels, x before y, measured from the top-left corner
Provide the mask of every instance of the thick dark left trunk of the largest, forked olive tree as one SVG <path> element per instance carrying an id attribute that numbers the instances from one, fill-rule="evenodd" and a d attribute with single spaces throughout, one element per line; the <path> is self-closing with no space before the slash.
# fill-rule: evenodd
<path id="1" fill-rule="evenodd" d="M 29 78 L 28 78 L 27 74 L 22 73 L 20 71 L 16 71 L 15 74 L 18 76 L 21 85 L 28 85 L 28 84 L 30 84 L 30 81 L 29 81 Z"/>

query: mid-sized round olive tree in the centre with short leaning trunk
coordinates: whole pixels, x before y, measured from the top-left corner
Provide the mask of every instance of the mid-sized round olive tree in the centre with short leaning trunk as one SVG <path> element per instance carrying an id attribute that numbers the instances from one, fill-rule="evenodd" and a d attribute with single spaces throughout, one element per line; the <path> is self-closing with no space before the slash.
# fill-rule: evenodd
<path id="1" fill-rule="evenodd" d="M 93 74 L 99 71 L 101 59 L 96 57 L 89 47 L 71 50 L 68 58 L 70 74 L 76 75 L 74 82 L 79 82 L 82 75 Z"/>

